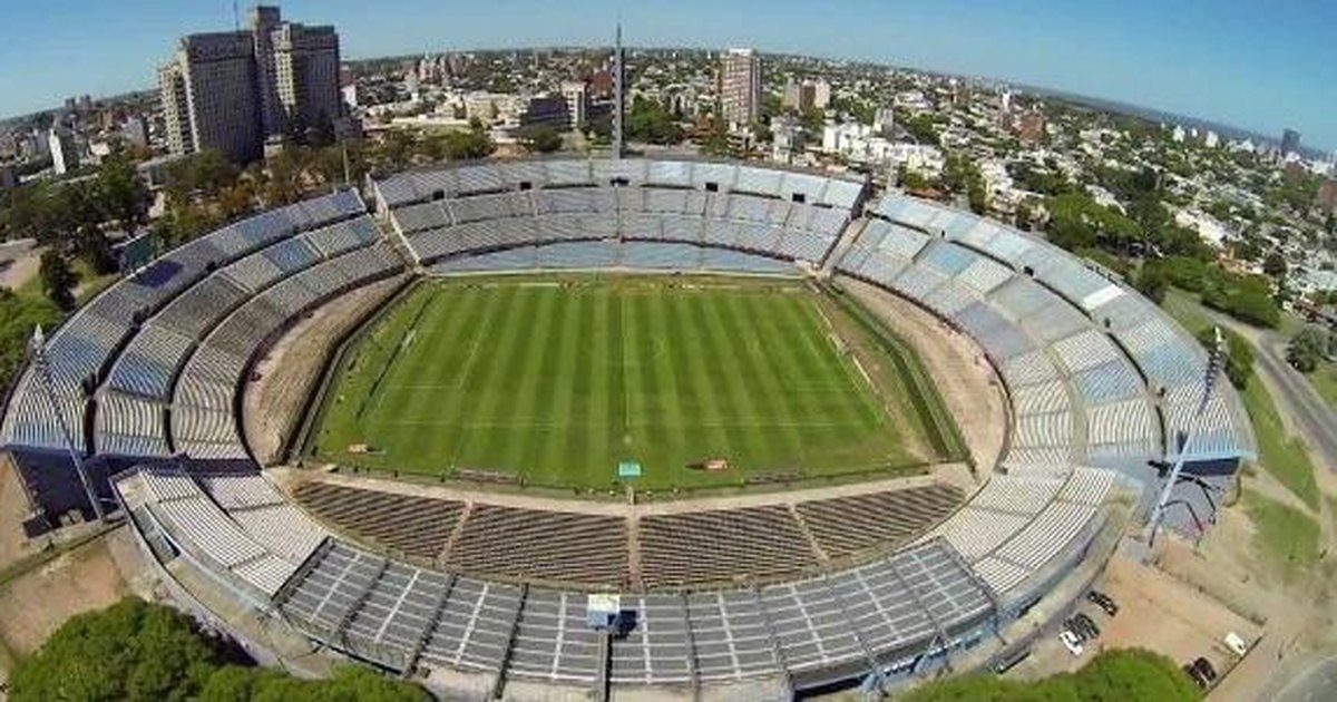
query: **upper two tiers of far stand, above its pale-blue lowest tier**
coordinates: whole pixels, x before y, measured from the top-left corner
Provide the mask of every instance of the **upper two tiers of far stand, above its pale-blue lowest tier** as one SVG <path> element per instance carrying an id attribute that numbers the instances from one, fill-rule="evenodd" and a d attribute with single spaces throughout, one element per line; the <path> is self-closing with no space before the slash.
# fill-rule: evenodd
<path id="1" fill-rule="evenodd" d="M 558 163 L 547 163 L 550 175 Z M 377 185 L 380 209 L 420 262 L 548 239 L 611 238 L 703 242 L 821 262 L 864 191 L 860 182 L 718 163 L 600 160 L 591 179 L 576 178 L 580 187 L 544 187 L 528 162 L 488 168 L 499 174 L 500 190 L 461 187 L 453 171 L 464 168 Z M 532 190 L 516 190 L 520 183 Z M 443 270 L 475 267 L 461 262 Z"/>

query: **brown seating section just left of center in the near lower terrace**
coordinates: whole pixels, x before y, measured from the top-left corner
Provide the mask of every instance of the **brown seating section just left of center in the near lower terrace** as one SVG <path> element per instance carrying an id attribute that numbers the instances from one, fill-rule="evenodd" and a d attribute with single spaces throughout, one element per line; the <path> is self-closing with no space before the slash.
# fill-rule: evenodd
<path id="1" fill-rule="evenodd" d="M 627 579 L 627 521 L 476 503 L 447 564 L 505 578 L 619 583 Z"/>

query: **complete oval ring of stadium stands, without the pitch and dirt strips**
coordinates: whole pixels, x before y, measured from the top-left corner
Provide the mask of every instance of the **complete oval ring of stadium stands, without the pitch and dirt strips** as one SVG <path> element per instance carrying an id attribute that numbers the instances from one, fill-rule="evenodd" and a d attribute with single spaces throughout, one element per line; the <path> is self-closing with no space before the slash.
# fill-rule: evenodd
<path id="1" fill-rule="evenodd" d="M 971 336 L 1012 415 L 1000 465 L 969 496 L 933 484 L 622 517 L 310 481 L 289 501 L 250 461 L 237 393 L 293 320 L 404 267 L 353 191 L 190 242 L 51 334 L 55 413 L 29 368 L 0 425 L 11 452 L 64 449 L 59 417 L 76 449 L 135 465 L 112 485 L 155 554 L 397 671 L 588 686 L 604 645 L 608 679 L 626 686 L 779 678 L 798 690 L 921 670 L 1070 571 L 1111 497 L 1154 480 L 1147 460 L 1175 457 L 1201 394 L 1195 341 L 1115 275 L 901 194 L 864 211 L 864 181 L 552 159 L 406 172 L 372 190 L 429 274 L 826 266 Z M 1238 464 L 1253 451 L 1221 386 L 1187 459 Z M 591 590 L 623 592 L 630 618 L 610 642 L 588 627 Z"/>

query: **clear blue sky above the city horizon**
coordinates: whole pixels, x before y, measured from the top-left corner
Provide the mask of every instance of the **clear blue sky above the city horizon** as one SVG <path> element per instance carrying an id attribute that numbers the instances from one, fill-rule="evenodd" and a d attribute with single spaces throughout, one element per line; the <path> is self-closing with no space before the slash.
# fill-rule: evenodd
<path id="1" fill-rule="evenodd" d="M 606 43 L 753 45 L 1016 80 L 1337 147 L 1332 0 L 291 0 L 346 57 Z M 241 3 L 245 12 L 246 3 Z M 152 86 L 174 37 L 230 0 L 0 0 L 0 115 Z"/>

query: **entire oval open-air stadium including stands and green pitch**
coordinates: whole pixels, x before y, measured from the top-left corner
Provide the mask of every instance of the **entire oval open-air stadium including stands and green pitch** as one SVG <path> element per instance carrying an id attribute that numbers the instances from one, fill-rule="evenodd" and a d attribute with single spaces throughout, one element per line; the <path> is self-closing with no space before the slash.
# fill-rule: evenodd
<path id="1" fill-rule="evenodd" d="M 559 158 L 362 190 L 48 334 L 0 436 L 31 534 L 114 512 L 164 579 L 443 697 L 778 699 L 1007 661 L 1166 465 L 1193 534 L 1254 453 L 1116 275 L 864 178 Z"/>

